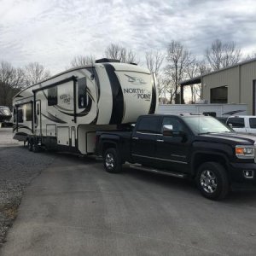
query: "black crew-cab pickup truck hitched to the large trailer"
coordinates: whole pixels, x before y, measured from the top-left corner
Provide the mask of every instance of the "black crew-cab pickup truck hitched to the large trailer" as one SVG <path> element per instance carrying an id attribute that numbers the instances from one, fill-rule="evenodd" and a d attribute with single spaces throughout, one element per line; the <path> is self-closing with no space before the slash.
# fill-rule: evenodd
<path id="1" fill-rule="evenodd" d="M 256 189 L 256 137 L 210 116 L 144 115 L 130 131 L 98 131 L 96 153 L 107 172 L 132 168 L 195 179 L 202 195 L 223 199 L 230 189 Z"/>

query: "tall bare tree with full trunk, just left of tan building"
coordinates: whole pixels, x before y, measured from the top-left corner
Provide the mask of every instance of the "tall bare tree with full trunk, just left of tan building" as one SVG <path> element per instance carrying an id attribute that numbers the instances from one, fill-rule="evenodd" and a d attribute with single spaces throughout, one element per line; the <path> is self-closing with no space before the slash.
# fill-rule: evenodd
<path id="1" fill-rule="evenodd" d="M 172 86 L 174 86 L 174 101 L 178 103 L 179 83 L 185 78 L 186 69 L 191 63 L 191 53 L 188 49 L 185 49 L 183 44 L 172 40 L 167 49 L 166 61 L 168 61 L 166 75 L 172 80 Z"/>

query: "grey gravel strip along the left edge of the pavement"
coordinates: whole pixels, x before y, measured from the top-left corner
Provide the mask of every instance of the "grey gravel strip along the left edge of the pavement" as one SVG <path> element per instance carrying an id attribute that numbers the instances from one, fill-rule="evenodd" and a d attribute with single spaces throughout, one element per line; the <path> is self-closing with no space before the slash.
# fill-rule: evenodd
<path id="1" fill-rule="evenodd" d="M 0 128 L 0 247 L 16 218 L 24 188 L 54 160 L 53 155 L 25 150 L 12 137 L 11 128 Z"/>

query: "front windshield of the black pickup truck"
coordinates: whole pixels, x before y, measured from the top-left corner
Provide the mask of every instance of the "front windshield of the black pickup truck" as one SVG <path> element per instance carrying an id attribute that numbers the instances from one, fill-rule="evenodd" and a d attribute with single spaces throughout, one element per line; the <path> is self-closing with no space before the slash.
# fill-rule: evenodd
<path id="1" fill-rule="evenodd" d="M 183 120 L 195 134 L 232 131 L 220 121 L 210 116 L 188 116 L 183 117 Z"/>

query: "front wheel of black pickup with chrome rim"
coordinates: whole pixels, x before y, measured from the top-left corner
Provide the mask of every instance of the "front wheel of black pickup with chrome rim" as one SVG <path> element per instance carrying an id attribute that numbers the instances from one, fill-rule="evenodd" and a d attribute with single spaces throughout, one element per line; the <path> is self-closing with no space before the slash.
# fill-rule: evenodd
<path id="1" fill-rule="evenodd" d="M 224 166 L 216 162 L 207 162 L 199 167 L 196 183 L 201 194 L 212 200 L 224 199 L 230 190 Z"/>

